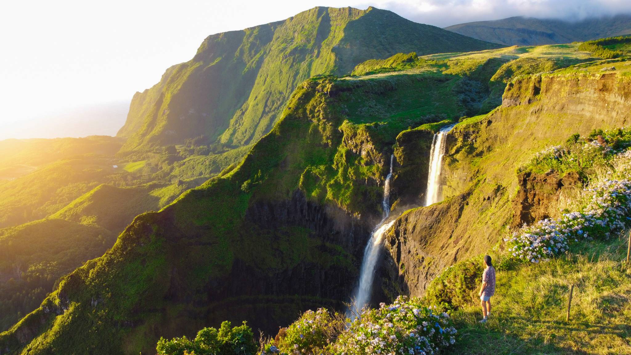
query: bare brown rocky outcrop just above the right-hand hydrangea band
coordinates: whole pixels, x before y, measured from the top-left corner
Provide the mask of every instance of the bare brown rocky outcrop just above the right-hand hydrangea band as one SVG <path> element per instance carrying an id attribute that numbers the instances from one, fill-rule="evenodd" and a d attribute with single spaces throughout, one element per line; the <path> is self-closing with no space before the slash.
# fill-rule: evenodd
<path id="1" fill-rule="evenodd" d="M 510 226 L 532 224 L 536 220 L 557 217 L 557 202 L 563 189 L 581 185 L 581 178 L 575 172 L 559 176 L 558 172 L 548 171 L 535 174 L 527 171 L 517 175 L 519 191 L 512 201 L 513 220 Z"/>

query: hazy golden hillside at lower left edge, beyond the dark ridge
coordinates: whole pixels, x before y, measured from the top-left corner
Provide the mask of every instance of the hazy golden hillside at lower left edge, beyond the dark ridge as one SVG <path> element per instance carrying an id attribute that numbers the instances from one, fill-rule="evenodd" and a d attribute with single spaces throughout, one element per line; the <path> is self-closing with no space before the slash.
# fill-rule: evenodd
<path id="1" fill-rule="evenodd" d="M 0 328 L 37 308 L 59 277 L 103 255 L 115 238 L 101 227 L 62 219 L 0 229 Z"/>

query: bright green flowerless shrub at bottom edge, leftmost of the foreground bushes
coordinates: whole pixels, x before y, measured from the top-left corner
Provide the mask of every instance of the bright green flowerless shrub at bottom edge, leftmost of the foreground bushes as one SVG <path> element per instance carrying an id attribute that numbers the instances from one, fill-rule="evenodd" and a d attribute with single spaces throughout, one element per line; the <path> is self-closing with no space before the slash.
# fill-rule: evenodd
<path id="1" fill-rule="evenodd" d="M 156 351 L 159 355 L 251 355 L 256 348 L 252 329 L 245 322 L 234 328 L 230 328 L 230 322 L 223 322 L 219 330 L 212 327 L 199 330 L 194 340 L 186 336 L 171 340 L 161 337 Z"/>

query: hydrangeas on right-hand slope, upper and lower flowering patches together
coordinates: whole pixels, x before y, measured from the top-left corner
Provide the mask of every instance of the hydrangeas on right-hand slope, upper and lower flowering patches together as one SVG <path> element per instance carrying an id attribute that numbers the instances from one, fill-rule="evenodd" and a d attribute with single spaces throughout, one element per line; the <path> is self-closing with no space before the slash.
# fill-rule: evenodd
<path id="1" fill-rule="evenodd" d="M 606 132 L 601 131 L 604 134 Z M 622 131 L 623 134 L 619 136 L 624 136 L 625 132 L 626 130 Z M 620 140 L 617 142 L 622 144 Z M 583 190 L 582 198 L 575 202 L 574 212 L 565 213 L 558 219 L 546 219 L 532 226 L 523 226 L 511 238 L 504 239 L 514 258 L 532 263 L 549 260 L 552 256 L 568 251 L 572 242 L 607 239 L 628 225 L 631 220 L 631 181 L 626 177 L 631 172 L 628 169 L 631 166 L 631 151 L 615 151 L 610 147 L 603 147 L 602 141 L 595 140 L 586 143 L 586 146 L 582 152 L 597 150 L 607 158 L 606 165 L 601 166 L 608 168 L 608 174 L 594 178 L 591 186 Z M 584 160 L 586 156 L 591 154 L 576 158 L 562 148 L 552 147 L 536 155 L 534 160 Z M 559 164 L 565 162 L 561 161 Z"/>

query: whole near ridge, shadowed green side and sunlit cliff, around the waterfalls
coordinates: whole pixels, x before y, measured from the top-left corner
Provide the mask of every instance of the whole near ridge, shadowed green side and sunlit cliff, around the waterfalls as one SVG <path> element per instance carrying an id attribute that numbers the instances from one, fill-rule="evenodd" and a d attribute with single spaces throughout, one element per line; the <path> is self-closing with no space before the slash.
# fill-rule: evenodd
<path id="1" fill-rule="evenodd" d="M 298 311 L 341 310 L 382 214 L 391 154 L 396 222 L 373 300 L 423 294 L 445 267 L 500 240 L 518 191 L 524 206 L 540 196 L 518 167 L 572 133 L 628 121 L 618 93 L 631 67 L 616 60 L 577 44 L 398 54 L 353 68 L 362 75 L 306 80 L 239 165 L 136 217 L 0 334 L 0 348 L 137 354 L 223 320 L 274 334 Z M 423 200 L 433 134 L 449 123 L 446 199 L 410 208 Z"/>

